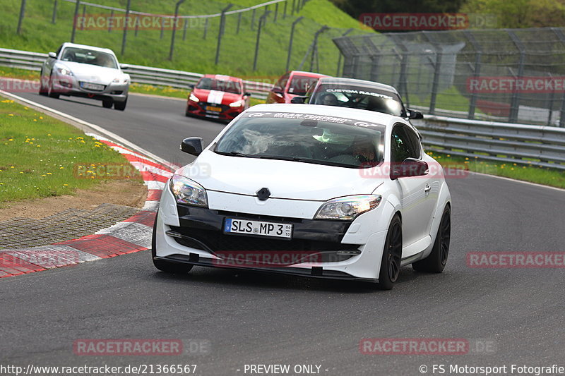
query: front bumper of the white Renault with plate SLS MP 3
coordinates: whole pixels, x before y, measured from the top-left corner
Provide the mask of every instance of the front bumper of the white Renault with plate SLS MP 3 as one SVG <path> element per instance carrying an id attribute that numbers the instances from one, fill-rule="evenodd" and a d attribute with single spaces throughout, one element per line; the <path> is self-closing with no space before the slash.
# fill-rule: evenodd
<path id="1" fill-rule="evenodd" d="M 254 210 L 252 200 L 255 199 L 226 197 L 233 211 L 222 210 L 222 202 L 210 205 L 210 209 L 190 207 L 177 205 L 170 190 L 165 188 L 155 226 L 155 259 L 307 277 L 378 281 L 389 223 L 387 205 L 381 202 L 382 206 L 361 214 L 355 221 L 343 222 L 315 220 L 304 215 L 302 218 L 280 216 L 276 210 L 272 213 L 275 215 L 267 215 Z M 213 202 L 210 200 L 210 204 Z M 314 205 L 318 207 L 321 202 Z M 226 218 L 292 223 L 292 240 L 224 234 Z"/>

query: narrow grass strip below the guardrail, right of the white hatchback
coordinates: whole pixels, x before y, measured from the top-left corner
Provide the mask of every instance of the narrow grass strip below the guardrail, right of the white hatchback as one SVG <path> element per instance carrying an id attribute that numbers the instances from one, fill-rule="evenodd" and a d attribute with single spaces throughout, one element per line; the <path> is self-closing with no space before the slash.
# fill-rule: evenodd
<path id="1" fill-rule="evenodd" d="M 516 163 L 498 163 L 481 160 L 480 157 L 468 158 L 458 157 L 446 153 L 428 152 L 442 166 L 454 168 L 463 167 L 468 171 L 480 172 L 482 174 L 504 176 L 521 181 L 543 184 L 557 188 L 565 188 L 565 174 L 557 169 L 548 169 L 537 166 L 524 166 Z"/>

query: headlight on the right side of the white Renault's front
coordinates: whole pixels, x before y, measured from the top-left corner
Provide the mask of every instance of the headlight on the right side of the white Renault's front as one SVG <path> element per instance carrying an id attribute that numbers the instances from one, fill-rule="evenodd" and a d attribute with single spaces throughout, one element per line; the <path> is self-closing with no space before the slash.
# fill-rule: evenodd
<path id="1" fill-rule="evenodd" d="M 350 221 L 359 214 L 368 212 L 379 206 L 381 195 L 357 195 L 344 198 L 335 198 L 324 203 L 314 219 L 340 219 Z"/>

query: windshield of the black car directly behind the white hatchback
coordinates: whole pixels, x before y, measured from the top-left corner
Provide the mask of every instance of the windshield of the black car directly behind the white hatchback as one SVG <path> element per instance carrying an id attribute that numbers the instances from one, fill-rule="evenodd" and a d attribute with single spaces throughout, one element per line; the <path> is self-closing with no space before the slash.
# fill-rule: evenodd
<path id="1" fill-rule="evenodd" d="M 310 103 L 367 109 L 369 111 L 383 112 L 384 114 L 394 116 L 406 116 L 402 100 L 395 92 L 369 87 L 331 84 L 320 85 L 316 89 Z"/>

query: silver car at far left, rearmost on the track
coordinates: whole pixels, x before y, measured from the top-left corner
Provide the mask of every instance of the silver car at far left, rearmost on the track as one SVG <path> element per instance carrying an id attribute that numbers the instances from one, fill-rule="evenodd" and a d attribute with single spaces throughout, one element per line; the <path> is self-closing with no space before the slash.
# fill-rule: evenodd
<path id="1" fill-rule="evenodd" d="M 43 63 L 40 95 L 97 99 L 107 109 L 124 111 L 131 80 L 126 68 L 111 49 L 64 43 Z"/>

